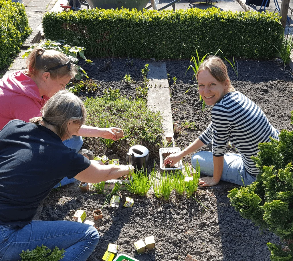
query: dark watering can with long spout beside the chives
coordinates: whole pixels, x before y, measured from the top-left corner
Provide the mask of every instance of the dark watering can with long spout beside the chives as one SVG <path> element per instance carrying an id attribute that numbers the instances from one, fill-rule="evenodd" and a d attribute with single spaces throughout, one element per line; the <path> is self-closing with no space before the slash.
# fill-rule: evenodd
<path id="1" fill-rule="evenodd" d="M 156 137 L 156 140 L 150 150 L 141 145 L 132 146 L 126 154 L 127 164 L 131 164 L 135 169 L 143 170 L 143 172 L 146 173 L 147 168 L 149 167 L 149 153 L 153 150 L 158 139 L 159 135 Z"/>

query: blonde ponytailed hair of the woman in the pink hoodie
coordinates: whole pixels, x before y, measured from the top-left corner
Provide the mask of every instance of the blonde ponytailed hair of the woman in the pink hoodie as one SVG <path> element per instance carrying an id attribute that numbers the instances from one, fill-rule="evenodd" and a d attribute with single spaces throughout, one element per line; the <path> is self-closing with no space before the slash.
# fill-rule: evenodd
<path id="1" fill-rule="evenodd" d="M 26 66 L 28 69 L 25 70 L 25 74 L 33 76 L 38 74 L 39 71 L 47 71 L 58 65 L 66 64 L 69 58 L 62 52 L 56 50 L 45 50 L 42 47 L 35 47 L 28 58 L 26 59 Z M 62 66 L 61 68 L 50 70 L 50 75 L 52 79 L 62 78 L 70 76 L 74 78 L 77 74 L 76 66 L 71 64 L 71 70 L 67 66 Z"/>

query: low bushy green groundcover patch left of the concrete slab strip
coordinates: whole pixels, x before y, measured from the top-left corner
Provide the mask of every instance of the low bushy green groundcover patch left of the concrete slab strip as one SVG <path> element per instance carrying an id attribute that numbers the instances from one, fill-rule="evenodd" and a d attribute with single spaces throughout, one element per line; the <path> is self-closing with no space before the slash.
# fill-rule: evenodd
<path id="1" fill-rule="evenodd" d="M 129 100 L 120 97 L 119 90 L 118 93 L 113 90 L 111 93 L 102 98 L 87 98 L 84 101 L 87 110 L 86 124 L 95 127 L 104 127 L 107 124 L 123 129 L 124 136 L 127 137 L 107 146 L 117 149 L 122 155 L 133 145 L 141 144 L 150 148 L 156 136 L 163 133 L 160 112 L 148 110 L 145 99 Z M 101 139 L 86 138 L 85 144 L 96 155 L 104 153 L 105 143 Z"/>

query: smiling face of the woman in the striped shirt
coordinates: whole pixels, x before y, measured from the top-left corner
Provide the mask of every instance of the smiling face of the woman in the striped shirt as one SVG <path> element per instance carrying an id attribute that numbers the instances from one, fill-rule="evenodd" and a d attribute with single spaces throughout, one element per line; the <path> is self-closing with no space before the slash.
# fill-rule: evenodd
<path id="1" fill-rule="evenodd" d="M 200 71 L 197 75 L 198 91 L 207 105 L 214 105 L 228 93 L 228 79 L 223 83 L 217 81 L 208 70 Z"/>

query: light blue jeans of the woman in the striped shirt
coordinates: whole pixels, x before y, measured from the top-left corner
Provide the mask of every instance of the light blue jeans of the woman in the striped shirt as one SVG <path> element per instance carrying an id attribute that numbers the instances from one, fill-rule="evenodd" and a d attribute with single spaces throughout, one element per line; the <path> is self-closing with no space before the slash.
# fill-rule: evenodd
<path id="1" fill-rule="evenodd" d="M 214 162 L 211 151 L 199 151 L 191 157 L 191 164 L 196 168 L 196 161 L 200 165 L 200 173 L 213 176 Z M 247 186 L 256 180 L 256 177 L 248 174 L 244 168 L 243 161 L 240 154 L 226 153 L 224 156 L 224 168 L 221 180 L 231 182 L 237 185 Z M 243 180 L 243 182 L 242 182 Z"/>

